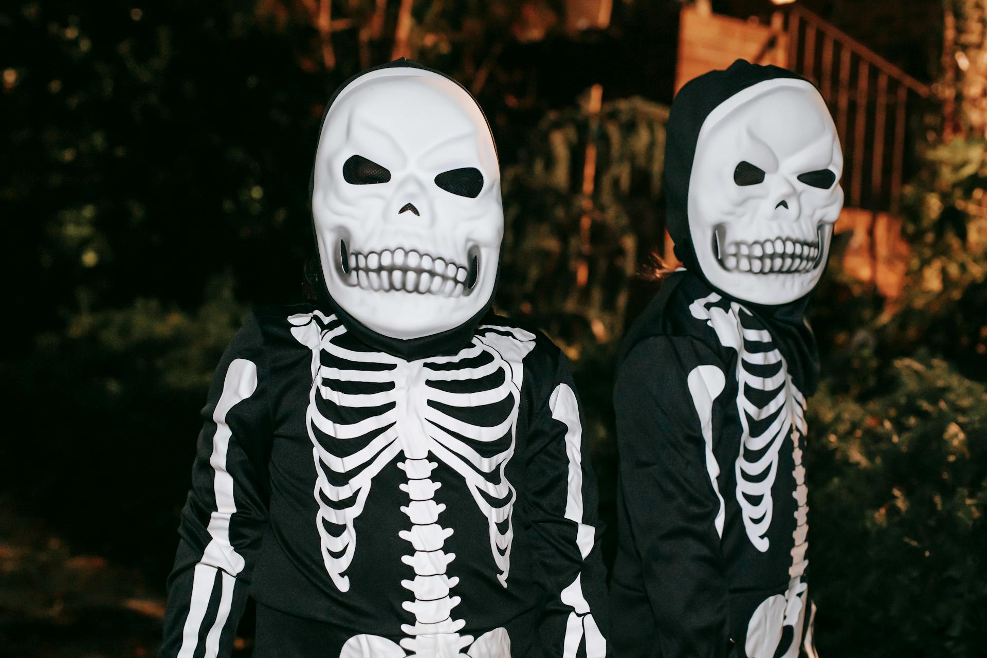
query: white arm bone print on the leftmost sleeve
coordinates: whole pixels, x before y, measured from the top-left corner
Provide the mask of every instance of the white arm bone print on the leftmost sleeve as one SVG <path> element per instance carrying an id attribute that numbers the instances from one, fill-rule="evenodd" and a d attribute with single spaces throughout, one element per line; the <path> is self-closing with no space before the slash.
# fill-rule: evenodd
<path id="1" fill-rule="evenodd" d="M 219 652 L 219 638 L 229 618 L 233 605 L 233 589 L 236 576 L 243 570 L 242 555 L 230 543 L 230 520 L 237 511 L 233 499 L 233 476 L 227 470 L 227 456 L 233 431 L 226 416 L 237 403 L 247 400 L 257 391 L 257 365 L 247 359 L 234 359 L 226 369 L 223 393 L 212 412 L 216 432 L 212 438 L 212 455 L 209 466 L 213 470 L 213 492 L 216 510 L 209 516 L 208 532 L 212 538 L 202 553 L 202 558 L 192 572 L 189 616 L 182 631 L 182 648 L 179 658 L 191 658 L 198 648 L 199 631 L 206 608 L 212 597 L 217 570 L 221 574 L 219 610 L 205 638 L 205 657 L 212 658 Z"/>

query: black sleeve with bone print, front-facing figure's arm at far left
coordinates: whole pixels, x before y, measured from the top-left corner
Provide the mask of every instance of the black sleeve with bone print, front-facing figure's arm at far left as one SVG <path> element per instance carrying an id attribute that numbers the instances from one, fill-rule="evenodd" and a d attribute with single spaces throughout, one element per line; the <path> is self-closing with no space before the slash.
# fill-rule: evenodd
<path id="1" fill-rule="evenodd" d="M 191 490 L 168 578 L 160 658 L 232 651 L 266 526 L 266 374 L 261 329 L 252 316 L 226 349 L 202 409 Z"/>

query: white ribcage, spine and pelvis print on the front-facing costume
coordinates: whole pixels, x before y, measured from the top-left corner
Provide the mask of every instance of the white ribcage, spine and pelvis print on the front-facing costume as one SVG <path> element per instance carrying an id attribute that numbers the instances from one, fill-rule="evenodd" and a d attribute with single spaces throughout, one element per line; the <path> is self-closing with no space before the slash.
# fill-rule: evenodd
<path id="1" fill-rule="evenodd" d="M 460 603 L 453 595 L 459 582 L 454 575 L 456 556 L 443 550 L 455 530 L 442 525 L 445 505 L 434 500 L 441 483 L 431 474 L 441 462 L 468 485 L 473 504 L 488 519 L 497 579 L 506 587 L 515 492 L 504 469 L 514 453 L 522 360 L 534 348 L 534 334 L 481 327 L 472 344 L 454 356 L 406 361 L 383 352 L 343 348 L 338 339 L 345 329 L 335 316 L 314 312 L 288 320 L 295 338 L 312 350 L 307 425 L 317 475 L 316 525 L 326 570 L 340 591 L 349 589 L 345 571 L 359 544 L 354 522 L 374 477 L 399 459 L 398 467 L 407 476 L 400 488 L 407 500 L 401 511 L 409 526 L 399 536 L 408 543 L 402 561 L 415 573 L 414 579 L 402 582 L 409 590 L 403 607 L 415 623 L 402 624 L 406 637 L 400 646 L 361 634 L 346 642 L 341 658 L 397 657 L 405 656 L 406 650 L 413 656 L 509 658 L 510 640 L 503 628 L 476 640 L 459 634 L 466 622 L 455 619 Z M 496 424 L 480 426 L 464 419 L 469 408 L 492 405 L 502 410 Z M 365 417 L 342 424 L 334 419 L 335 407 L 366 409 Z M 362 449 L 346 448 L 347 440 L 375 432 Z M 503 448 L 491 454 L 493 442 Z M 342 484 L 334 483 L 341 479 Z M 338 506 L 347 500 L 352 501 L 348 507 Z"/>

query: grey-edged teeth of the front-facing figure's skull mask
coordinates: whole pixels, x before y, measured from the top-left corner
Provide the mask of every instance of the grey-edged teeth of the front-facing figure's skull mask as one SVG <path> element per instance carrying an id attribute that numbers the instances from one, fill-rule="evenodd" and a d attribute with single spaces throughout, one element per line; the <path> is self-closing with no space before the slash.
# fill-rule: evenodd
<path id="1" fill-rule="evenodd" d="M 348 270 L 348 271 L 347 271 Z M 395 290 L 442 297 L 468 296 L 469 271 L 454 261 L 415 250 L 349 252 L 343 280 L 364 290 Z"/>

